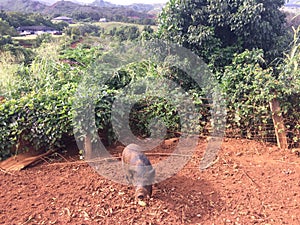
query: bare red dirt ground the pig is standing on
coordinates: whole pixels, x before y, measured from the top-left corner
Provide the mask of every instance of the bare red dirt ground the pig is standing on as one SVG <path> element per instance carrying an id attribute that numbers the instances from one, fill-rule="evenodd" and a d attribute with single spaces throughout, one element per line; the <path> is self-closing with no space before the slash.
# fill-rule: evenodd
<path id="1" fill-rule="evenodd" d="M 217 163 L 201 172 L 205 145 L 154 186 L 145 207 L 134 202 L 132 187 L 106 180 L 83 161 L 2 171 L 0 224 L 300 224 L 296 154 L 226 139 Z"/>

